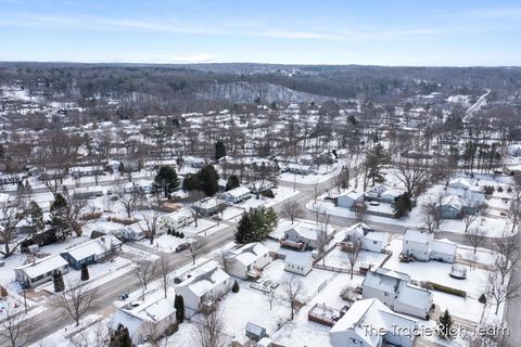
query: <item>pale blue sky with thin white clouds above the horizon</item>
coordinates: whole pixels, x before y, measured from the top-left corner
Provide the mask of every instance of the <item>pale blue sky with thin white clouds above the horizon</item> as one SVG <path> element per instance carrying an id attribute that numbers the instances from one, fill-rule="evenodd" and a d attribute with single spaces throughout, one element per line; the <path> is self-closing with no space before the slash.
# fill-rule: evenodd
<path id="1" fill-rule="evenodd" d="M 520 0 L 0 0 L 0 61 L 519 66 L 520 34 Z"/>

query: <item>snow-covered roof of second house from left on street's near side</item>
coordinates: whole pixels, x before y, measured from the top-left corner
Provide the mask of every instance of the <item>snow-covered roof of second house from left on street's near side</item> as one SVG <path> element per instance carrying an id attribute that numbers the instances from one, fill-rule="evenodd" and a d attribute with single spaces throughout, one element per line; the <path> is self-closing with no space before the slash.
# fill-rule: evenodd
<path id="1" fill-rule="evenodd" d="M 193 294 L 202 297 L 230 277 L 219 268 L 217 261 L 208 261 L 190 273 L 190 278 L 178 284 L 188 287 Z"/>

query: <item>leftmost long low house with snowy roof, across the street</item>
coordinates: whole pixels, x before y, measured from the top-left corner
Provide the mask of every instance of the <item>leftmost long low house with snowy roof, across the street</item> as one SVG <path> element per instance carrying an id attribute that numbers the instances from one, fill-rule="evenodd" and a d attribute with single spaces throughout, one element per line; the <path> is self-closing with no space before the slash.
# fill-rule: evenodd
<path id="1" fill-rule="evenodd" d="M 35 262 L 15 268 L 16 281 L 26 287 L 33 287 L 52 280 L 54 272 L 68 272 L 68 262 L 59 255 L 49 256 Z"/>

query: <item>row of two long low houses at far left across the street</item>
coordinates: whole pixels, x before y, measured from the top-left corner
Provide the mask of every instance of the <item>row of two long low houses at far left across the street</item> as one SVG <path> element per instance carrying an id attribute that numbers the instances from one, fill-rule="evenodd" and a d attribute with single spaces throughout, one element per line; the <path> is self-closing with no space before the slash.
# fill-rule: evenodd
<path id="1" fill-rule="evenodd" d="M 54 273 L 68 272 L 68 267 L 79 270 L 84 264 L 102 262 L 122 249 L 122 242 L 113 235 L 101 236 L 14 269 L 15 279 L 25 287 L 52 280 Z"/>

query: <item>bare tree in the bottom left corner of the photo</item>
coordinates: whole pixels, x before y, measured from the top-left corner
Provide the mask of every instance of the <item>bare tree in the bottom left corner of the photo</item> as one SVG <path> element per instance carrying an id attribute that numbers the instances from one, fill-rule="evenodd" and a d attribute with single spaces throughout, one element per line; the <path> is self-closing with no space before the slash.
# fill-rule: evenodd
<path id="1" fill-rule="evenodd" d="M 0 336 L 9 340 L 12 347 L 26 346 L 33 332 L 33 319 L 24 312 L 17 312 L 11 303 L 7 303 L 0 314 Z"/>

